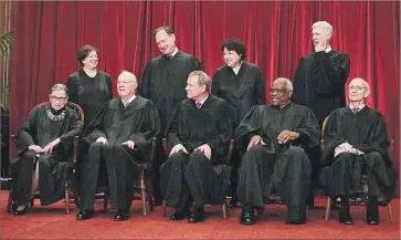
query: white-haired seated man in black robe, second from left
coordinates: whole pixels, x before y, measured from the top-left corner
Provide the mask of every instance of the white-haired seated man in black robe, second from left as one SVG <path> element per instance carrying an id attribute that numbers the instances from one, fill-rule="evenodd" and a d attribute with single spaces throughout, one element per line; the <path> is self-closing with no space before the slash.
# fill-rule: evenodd
<path id="1" fill-rule="evenodd" d="M 89 144 L 88 163 L 84 165 L 83 191 L 77 220 L 94 215 L 94 201 L 99 163 L 106 163 L 110 200 L 117 209 L 115 220 L 129 217 L 134 197 L 134 180 L 139 166 L 150 160 L 151 138 L 160 123 L 151 101 L 135 95 L 137 80 L 124 71 L 117 80 L 118 98 L 112 100 L 95 117 L 85 139 Z"/>

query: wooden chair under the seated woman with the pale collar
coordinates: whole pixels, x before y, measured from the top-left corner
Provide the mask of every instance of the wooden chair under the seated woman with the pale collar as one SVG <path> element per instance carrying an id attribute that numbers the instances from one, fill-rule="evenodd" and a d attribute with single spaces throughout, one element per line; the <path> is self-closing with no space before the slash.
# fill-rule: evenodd
<path id="1" fill-rule="evenodd" d="M 43 105 L 49 104 L 49 102 L 43 102 L 38 104 L 34 108 L 36 107 L 41 107 Z M 82 111 L 81 106 L 78 106 L 75 103 L 66 103 L 66 106 L 74 109 L 77 115 L 80 116 L 80 121 L 82 122 L 82 124 L 84 124 L 84 112 Z M 11 139 L 15 139 L 17 135 L 11 135 Z M 76 176 L 75 176 L 75 171 L 76 171 L 76 156 L 77 156 L 77 150 L 78 150 L 78 136 L 74 137 L 74 142 L 73 142 L 73 153 L 71 155 L 71 157 L 67 158 L 67 165 L 65 167 L 65 173 L 63 175 L 64 180 L 65 180 L 65 196 L 64 196 L 64 202 L 65 202 L 65 212 L 68 215 L 70 213 L 70 204 L 71 204 L 71 199 L 74 199 L 75 205 L 77 205 L 77 186 L 76 186 Z M 30 206 L 33 207 L 34 204 L 34 199 L 38 199 L 40 197 L 40 195 L 35 195 L 33 196 Z M 7 202 L 7 209 L 9 212 L 12 211 L 12 187 L 9 191 L 9 199 Z"/>

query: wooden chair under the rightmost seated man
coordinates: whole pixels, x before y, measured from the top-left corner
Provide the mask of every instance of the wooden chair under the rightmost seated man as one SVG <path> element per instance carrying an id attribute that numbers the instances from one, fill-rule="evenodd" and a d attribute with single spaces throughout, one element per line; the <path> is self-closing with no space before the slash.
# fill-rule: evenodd
<path id="1" fill-rule="evenodd" d="M 320 140 L 321 152 L 326 148 L 325 133 L 326 133 L 326 128 L 327 128 L 327 123 L 328 123 L 328 116 L 325 118 L 325 121 L 323 122 L 323 125 L 321 125 L 321 140 Z M 394 144 L 394 140 L 391 140 L 390 148 L 393 147 L 393 144 Z M 327 199 L 327 201 L 326 201 L 325 220 L 328 221 L 328 219 L 330 217 L 333 204 L 338 206 L 339 201 L 338 201 L 338 199 L 331 199 L 330 196 L 326 196 L 326 199 Z M 333 201 L 335 201 L 335 202 L 333 202 Z M 367 204 L 368 204 L 368 176 L 366 174 L 362 174 L 362 177 L 359 181 L 357 191 L 355 194 L 352 194 L 349 198 L 349 205 L 350 206 L 366 206 Z M 389 219 L 390 219 L 390 221 L 392 221 L 393 217 L 392 217 L 391 201 L 387 202 L 382 199 L 379 199 L 379 206 L 388 208 Z"/>

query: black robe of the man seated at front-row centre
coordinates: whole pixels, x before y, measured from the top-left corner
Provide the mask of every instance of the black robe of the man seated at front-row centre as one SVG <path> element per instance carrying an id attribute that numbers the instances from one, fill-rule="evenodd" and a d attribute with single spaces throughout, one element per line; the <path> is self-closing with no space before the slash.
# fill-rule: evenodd
<path id="1" fill-rule="evenodd" d="M 187 152 L 193 155 L 194 148 L 208 144 L 212 154 L 211 159 L 205 160 L 207 164 L 202 164 L 205 163 L 202 160 L 191 164 L 189 160 L 190 163 L 186 163 L 184 166 L 172 166 L 177 165 L 175 161 L 178 159 L 172 159 L 175 155 L 171 155 L 161 165 L 160 189 L 168 206 L 178 208 L 178 202 L 184 195 L 183 179 L 197 207 L 205 204 L 221 205 L 222 199 L 225 199 L 231 174 L 231 167 L 226 166 L 226 153 L 232 134 L 233 129 L 228 118 L 228 103 L 224 100 L 210 94 L 200 109 L 193 100 L 187 98 L 178 104 L 170 127 L 167 129 L 168 145 L 172 148 L 177 144 L 182 144 Z M 192 157 L 207 159 L 203 154 Z M 178 173 L 178 167 L 181 174 Z"/>

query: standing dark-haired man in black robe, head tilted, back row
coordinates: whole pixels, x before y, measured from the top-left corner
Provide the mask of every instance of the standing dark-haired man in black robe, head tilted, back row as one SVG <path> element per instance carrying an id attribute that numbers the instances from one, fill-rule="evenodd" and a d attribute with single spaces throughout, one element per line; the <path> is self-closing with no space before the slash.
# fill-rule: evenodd
<path id="1" fill-rule="evenodd" d="M 201 63 L 191 54 L 180 51 L 176 45 L 176 33 L 169 27 L 154 31 L 155 41 L 161 55 L 148 62 L 139 84 L 139 95 L 155 103 L 160 116 L 160 136 L 157 143 L 156 167 L 166 158 L 161 147 L 168 121 L 179 102 L 186 98 L 186 84 L 189 73 L 202 70 Z M 156 204 L 161 202 L 159 175 L 155 173 L 154 195 Z"/>

